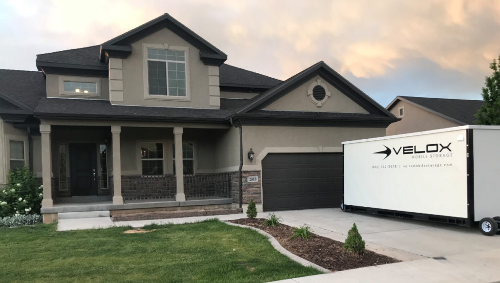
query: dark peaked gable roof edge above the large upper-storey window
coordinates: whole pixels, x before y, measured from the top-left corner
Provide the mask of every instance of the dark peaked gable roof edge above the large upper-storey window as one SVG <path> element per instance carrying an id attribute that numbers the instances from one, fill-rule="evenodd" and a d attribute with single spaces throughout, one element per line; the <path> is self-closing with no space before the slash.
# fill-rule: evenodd
<path id="1" fill-rule="evenodd" d="M 126 58 L 132 52 L 130 44 L 164 28 L 172 31 L 196 47 L 199 50 L 199 58 L 205 65 L 220 66 L 220 64 L 227 60 L 227 55 L 222 51 L 165 13 L 152 21 L 101 44 L 100 61 L 105 62 L 106 56 Z"/>

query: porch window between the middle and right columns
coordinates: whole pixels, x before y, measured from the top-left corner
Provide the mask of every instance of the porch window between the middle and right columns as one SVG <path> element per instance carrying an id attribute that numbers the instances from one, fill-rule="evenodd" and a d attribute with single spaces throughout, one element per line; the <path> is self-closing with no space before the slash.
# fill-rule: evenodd
<path id="1" fill-rule="evenodd" d="M 142 175 L 163 175 L 163 144 L 140 143 Z"/>

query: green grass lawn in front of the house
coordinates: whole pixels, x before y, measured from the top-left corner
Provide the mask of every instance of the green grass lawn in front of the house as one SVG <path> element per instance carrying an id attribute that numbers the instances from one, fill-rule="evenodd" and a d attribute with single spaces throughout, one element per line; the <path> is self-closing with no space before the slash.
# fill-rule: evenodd
<path id="1" fill-rule="evenodd" d="M 268 282 L 320 273 L 250 229 L 214 220 L 145 228 L 156 230 L 0 228 L 0 281 Z"/>

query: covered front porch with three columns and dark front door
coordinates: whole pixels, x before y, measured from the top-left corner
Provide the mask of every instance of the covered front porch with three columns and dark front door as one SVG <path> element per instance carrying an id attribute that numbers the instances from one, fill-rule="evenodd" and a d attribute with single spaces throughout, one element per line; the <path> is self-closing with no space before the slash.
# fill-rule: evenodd
<path id="1" fill-rule="evenodd" d="M 42 120 L 44 222 L 64 212 L 238 207 L 234 130 Z"/>

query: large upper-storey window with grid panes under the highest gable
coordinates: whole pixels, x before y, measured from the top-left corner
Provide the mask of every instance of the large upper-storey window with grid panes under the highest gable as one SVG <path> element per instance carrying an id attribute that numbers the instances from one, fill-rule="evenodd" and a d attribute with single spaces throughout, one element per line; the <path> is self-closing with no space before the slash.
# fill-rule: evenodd
<path id="1" fill-rule="evenodd" d="M 149 95 L 186 97 L 185 52 L 147 49 Z"/>

